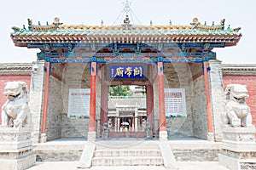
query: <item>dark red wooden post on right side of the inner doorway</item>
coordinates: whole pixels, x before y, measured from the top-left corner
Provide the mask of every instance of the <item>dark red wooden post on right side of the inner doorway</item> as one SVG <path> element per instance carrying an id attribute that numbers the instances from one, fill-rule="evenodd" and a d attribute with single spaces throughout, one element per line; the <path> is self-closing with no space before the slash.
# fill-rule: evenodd
<path id="1" fill-rule="evenodd" d="M 151 124 L 152 133 L 154 133 L 154 92 L 152 84 L 146 85 L 147 92 L 147 121 Z"/>

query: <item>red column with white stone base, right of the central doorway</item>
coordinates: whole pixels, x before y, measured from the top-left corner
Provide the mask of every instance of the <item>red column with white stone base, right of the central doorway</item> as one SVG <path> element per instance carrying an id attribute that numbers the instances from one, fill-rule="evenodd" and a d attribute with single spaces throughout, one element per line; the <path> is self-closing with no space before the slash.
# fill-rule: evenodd
<path id="1" fill-rule="evenodd" d="M 166 106 L 165 106 L 165 81 L 163 62 L 157 63 L 158 67 L 158 95 L 159 95 L 159 126 L 160 140 L 167 140 L 166 132 Z"/>

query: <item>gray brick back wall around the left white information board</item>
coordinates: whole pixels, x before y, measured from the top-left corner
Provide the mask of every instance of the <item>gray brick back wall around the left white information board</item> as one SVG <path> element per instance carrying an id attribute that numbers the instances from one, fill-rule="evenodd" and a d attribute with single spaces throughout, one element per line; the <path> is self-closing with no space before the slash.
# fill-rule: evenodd
<path id="1" fill-rule="evenodd" d="M 67 63 L 62 71 L 61 95 L 63 112 L 61 114 L 61 138 L 87 137 L 88 119 L 67 117 L 69 88 L 90 88 L 90 64 Z"/>

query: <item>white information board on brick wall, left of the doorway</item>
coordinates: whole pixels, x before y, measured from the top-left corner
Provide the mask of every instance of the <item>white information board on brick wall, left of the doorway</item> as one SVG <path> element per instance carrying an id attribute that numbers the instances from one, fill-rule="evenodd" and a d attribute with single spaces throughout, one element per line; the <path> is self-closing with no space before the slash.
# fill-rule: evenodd
<path id="1" fill-rule="evenodd" d="M 69 88 L 68 117 L 89 117 L 90 88 Z"/>

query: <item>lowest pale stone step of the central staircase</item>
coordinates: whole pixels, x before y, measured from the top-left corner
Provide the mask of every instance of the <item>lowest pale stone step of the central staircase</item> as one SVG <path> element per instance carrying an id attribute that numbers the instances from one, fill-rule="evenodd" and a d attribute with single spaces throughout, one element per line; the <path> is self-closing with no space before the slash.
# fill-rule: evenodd
<path id="1" fill-rule="evenodd" d="M 92 166 L 164 166 L 161 156 L 94 157 Z"/>

